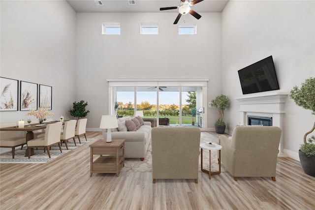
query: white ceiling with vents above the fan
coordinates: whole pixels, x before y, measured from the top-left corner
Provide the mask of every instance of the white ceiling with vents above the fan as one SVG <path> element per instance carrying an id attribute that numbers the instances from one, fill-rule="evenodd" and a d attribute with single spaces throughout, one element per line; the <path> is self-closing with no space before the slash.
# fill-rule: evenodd
<path id="1" fill-rule="evenodd" d="M 101 0 L 103 5 L 96 5 L 95 0 L 67 0 L 76 12 L 175 12 L 178 9 L 159 11 L 160 7 L 179 6 L 180 0 L 135 0 L 130 5 L 128 0 Z M 222 12 L 228 0 L 203 0 L 191 6 L 196 12 Z"/>

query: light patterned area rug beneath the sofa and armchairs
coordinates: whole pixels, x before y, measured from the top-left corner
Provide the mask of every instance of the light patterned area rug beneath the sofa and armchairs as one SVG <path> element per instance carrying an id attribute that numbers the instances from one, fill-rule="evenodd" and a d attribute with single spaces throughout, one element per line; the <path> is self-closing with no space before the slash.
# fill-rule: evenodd
<path id="1" fill-rule="evenodd" d="M 218 144 L 219 139 L 208 139 L 207 137 L 201 136 L 200 144 L 213 142 Z M 200 150 L 200 149 L 199 149 Z M 151 142 L 146 154 L 146 157 L 143 161 L 140 158 L 125 158 L 125 167 L 121 169 L 124 172 L 152 172 L 152 155 L 151 155 Z M 209 170 L 209 150 L 202 150 L 203 158 L 202 164 L 203 168 Z M 201 172 L 201 162 L 199 154 L 199 172 Z M 218 151 L 211 151 L 211 171 L 218 171 Z M 221 172 L 225 172 L 224 166 L 221 164 Z"/>

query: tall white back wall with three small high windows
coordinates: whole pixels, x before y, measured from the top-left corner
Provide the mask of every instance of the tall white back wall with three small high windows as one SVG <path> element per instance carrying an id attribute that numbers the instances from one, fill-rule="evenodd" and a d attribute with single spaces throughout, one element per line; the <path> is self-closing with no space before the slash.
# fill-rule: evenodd
<path id="1" fill-rule="evenodd" d="M 209 78 L 208 98 L 221 93 L 221 13 L 201 13 L 196 35 L 178 35 L 176 13 L 77 13 L 77 100 L 88 101 L 89 128 L 108 114 L 106 79 Z M 184 20 L 182 17 L 181 21 Z M 121 35 L 102 35 L 119 22 Z M 140 22 L 158 22 L 158 35 L 141 35 Z M 218 113 L 209 109 L 208 125 Z"/>

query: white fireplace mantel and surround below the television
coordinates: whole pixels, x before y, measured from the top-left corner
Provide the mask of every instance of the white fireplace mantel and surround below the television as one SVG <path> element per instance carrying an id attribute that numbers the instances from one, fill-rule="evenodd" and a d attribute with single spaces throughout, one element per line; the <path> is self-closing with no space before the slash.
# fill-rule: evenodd
<path id="1" fill-rule="evenodd" d="M 240 105 L 240 124 L 247 125 L 247 116 L 272 117 L 272 125 L 278 126 L 282 130 L 284 121 L 284 106 L 287 100 L 287 92 L 272 92 L 264 94 L 255 94 L 251 96 L 242 96 L 235 98 Z M 281 137 L 279 145 L 279 155 L 284 155 L 284 142 Z"/>

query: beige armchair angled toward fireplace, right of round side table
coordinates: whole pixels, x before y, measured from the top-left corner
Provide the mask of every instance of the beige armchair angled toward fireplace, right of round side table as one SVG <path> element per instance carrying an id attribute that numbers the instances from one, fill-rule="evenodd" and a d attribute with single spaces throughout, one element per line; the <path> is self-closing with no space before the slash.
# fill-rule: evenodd
<path id="1" fill-rule="evenodd" d="M 238 177 L 271 177 L 276 181 L 281 129 L 276 126 L 236 127 L 230 138 L 221 135 L 221 163 Z"/>

